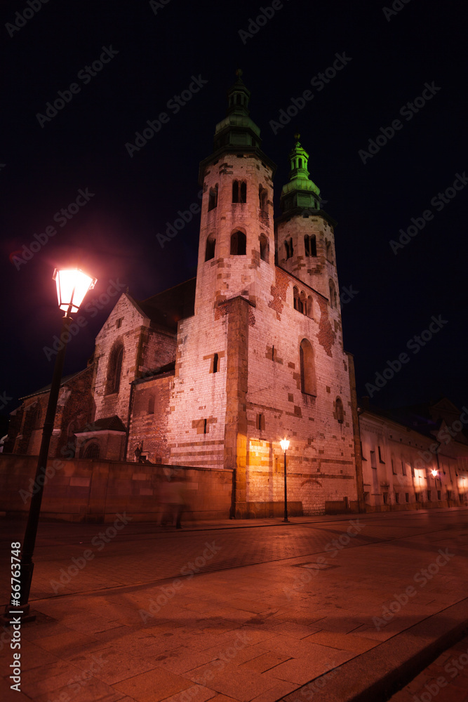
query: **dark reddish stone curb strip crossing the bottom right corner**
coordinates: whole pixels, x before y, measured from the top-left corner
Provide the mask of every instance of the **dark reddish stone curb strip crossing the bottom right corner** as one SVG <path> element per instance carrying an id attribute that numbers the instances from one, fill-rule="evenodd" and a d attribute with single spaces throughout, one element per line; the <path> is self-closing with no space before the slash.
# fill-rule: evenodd
<path id="1" fill-rule="evenodd" d="M 284 702 L 384 702 L 468 631 L 468 598 L 282 697 Z M 373 682 L 370 682 L 370 676 Z M 316 685 L 322 680 L 323 687 Z M 313 687 L 312 687 L 313 685 Z M 311 686 L 309 688 L 309 686 Z"/>

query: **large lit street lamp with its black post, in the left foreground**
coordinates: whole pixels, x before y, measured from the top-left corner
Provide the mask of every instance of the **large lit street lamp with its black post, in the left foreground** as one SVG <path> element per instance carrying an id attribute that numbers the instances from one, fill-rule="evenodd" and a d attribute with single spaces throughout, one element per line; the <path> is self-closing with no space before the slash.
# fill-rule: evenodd
<path id="1" fill-rule="evenodd" d="M 57 409 L 58 393 L 60 391 L 60 381 L 62 380 L 63 364 L 65 361 L 65 349 L 69 340 L 69 326 L 72 322 L 70 314 L 78 312 L 83 298 L 95 286 L 96 279 L 84 273 L 78 268 L 58 270 L 55 269 L 53 279 L 57 283 L 58 306 L 60 310 L 65 312 L 65 317 L 62 319 L 62 331 L 60 333 L 60 349 L 55 358 L 55 366 L 53 369 L 51 390 L 48 396 L 48 404 L 46 410 L 46 419 L 44 420 L 44 428 L 42 430 L 41 448 L 36 466 L 36 477 L 34 478 L 34 490 L 29 505 L 29 516 L 27 519 L 25 538 L 22 543 L 20 574 L 19 578 L 12 578 L 12 595 L 10 604 L 6 606 L 4 621 L 11 621 L 13 617 L 18 618 L 22 622 L 34 621 L 34 615 L 29 614 L 29 592 L 31 590 L 32 573 L 34 571 L 34 563 L 32 556 L 34 554 L 34 545 L 36 543 L 37 527 L 39 524 L 39 514 L 41 512 L 42 493 L 46 478 L 47 457 L 49 444 L 51 443 L 51 435 L 55 420 L 55 410 Z M 16 569 L 16 572 L 18 569 Z M 12 573 L 13 574 L 13 573 Z M 20 587 L 16 587 L 15 580 L 20 580 Z M 16 590 L 16 592 L 15 592 Z M 14 595 L 18 595 L 15 597 Z"/>

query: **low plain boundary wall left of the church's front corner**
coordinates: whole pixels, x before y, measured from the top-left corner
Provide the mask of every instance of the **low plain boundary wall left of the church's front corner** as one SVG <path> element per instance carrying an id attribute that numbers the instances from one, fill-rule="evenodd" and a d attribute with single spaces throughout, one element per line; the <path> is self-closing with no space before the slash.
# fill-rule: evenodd
<path id="1" fill-rule="evenodd" d="M 0 454 L 0 513 L 29 510 L 36 456 Z M 232 471 L 147 465 L 83 458 L 50 459 L 41 517 L 69 522 L 113 522 L 126 512 L 135 522 L 159 519 L 159 492 L 167 475 L 183 479 L 185 519 L 227 519 L 232 508 Z M 182 520 L 184 516 L 182 516 Z"/>

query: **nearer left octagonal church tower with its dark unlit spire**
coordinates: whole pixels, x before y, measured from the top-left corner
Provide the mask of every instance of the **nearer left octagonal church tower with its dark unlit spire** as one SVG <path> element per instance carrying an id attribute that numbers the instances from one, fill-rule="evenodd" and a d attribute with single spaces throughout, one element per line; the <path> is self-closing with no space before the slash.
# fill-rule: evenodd
<path id="1" fill-rule="evenodd" d="M 260 129 L 248 116 L 250 91 L 237 74 L 227 93 L 227 115 L 215 128 L 213 154 L 200 164 L 195 313 L 204 304 L 213 307 L 236 296 L 255 304 L 260 287 L 268 288 L 274 279 L 276 166 L 260 149 Z"/>

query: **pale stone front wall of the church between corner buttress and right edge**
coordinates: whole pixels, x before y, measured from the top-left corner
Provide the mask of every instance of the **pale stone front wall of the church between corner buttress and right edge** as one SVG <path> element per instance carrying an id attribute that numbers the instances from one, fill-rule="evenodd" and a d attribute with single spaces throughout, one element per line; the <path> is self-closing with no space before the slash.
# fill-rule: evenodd
<path id="1" fill-rule="evenodd" d="M 305 514 L 323 513 L 326 503 L 343 506 L 345 497 L 356 509 L 347 355 L 341 336 L 330 331 L 335 322 L 340 328 L 340 310 L 330 309 L 319 293 L 305 286 L 314 299 L 314 319 L 298 312 L 293 305 L 296 279 L 279 267 L 276 274 L 279 285 L 269 286 L 258 296 L 253 310 L 255 325 L 249 328 L 246 501 L 249 505 L 283 501 L 279 441 L 286 435 L 290 439 L 288 501 L 301 505 Z M 281 313 L 272 296 L 279 286 L 283 289 Z M 323 329 L 328 329 L 326 338 Z M 301 391 L 299 349 L 303 338 L 314 350 L 316 397 Z M 343 402 L 343 423 L 336 418 L 336 397 Z M 265 429 L 256 428 L 258 413 L 265 416 Z"/>

